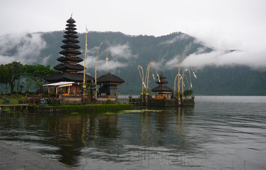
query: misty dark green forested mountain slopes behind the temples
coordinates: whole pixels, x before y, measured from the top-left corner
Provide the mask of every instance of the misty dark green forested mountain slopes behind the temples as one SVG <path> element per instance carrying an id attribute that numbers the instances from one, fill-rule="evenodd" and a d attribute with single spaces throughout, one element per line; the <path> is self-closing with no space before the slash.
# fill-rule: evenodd
<path id="1" fill-rule="evenodd" d="M 56 59 L 61 56 L 58 52 L 62 50 L 60 48 L 63 45 L 61 40 L 64 39 L 65 33 L 56 31 L 39 34 L 46 44 L 38 55 L 32 56 L 35 57 L 36 61 L 30 64 L 50 65 L 52 68 L 59 63 Z M 85 33 L 77 35 L 79 36 L 77 40 L 80 41 L 78 45 L 81 47 L 79 51 L 83 53 L 79 57 L 84 59 Z M 167 77 L 166 81 L 169 82 L 167 86 L 174 89 L 174 80 L 178 71 L 177 63 L 182 56 L 213 51 L 213 49 L 202 45 L 195 37 L 182 32 L 160 37 L 130 36 L 121 32 L 88 32 L 87 37 L 86 73 L 94 77 L 94 64 L 98 47 L 101 42 L 107 42 L 109 48 L 108 68 L 105 65 L 106 45 L 103 44 L 99 54 L 97 77 L 110 71 L 124 79 L 125 83 L 118 86 L 120 94 L 139 95 L 141 93 L 142 80 L 138 65 L 143 67 L 145 74 L 148 63 L 156 61 L 159 74 L 163 72 Z M 22 46 L 22 44 L 20 45 Z M 15 48 L 7 51 L 6 55 L 16 54 Z M 184 67 L 181 68 L 181 70 L 183 69 Z M 265 95 L 265 70 L 254 70 L 241 65 L 209 65 L 201 68 L 193 66 L 193 69 L 197 75 L 197 79 L 195 79 L 191 73 L 194 95 Z M 155 75 L 155 77 L 157 76 Z M 155 83 L 157 80 L 153 80 L 151 73 L 149 80 L 150 89 L 157 86 Z M 184 89 L 187 89 L 187 82 L 185 85 Z"/>

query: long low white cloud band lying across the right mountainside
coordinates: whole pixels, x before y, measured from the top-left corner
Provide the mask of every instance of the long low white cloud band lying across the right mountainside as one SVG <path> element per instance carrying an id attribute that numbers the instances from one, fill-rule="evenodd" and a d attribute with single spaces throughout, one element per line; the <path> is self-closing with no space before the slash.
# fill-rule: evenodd
<path id="1" fill-rule="evenodd" d="M 210 53 L 201 53 L 204 49 L 198 49 L 197 52 L 189 55 L 189 60 L 183 59 L 183 67 L 202 68 L 207 65 L 216 66 L 235 66 L 245 65 L 257 70 L 266 69 L 266 51 L 221 51 L 215 50 Z M 177 69 L 179 60 L 182 56 L 175 56 L 171 60 L 166 61 L 164 67 L 167 69 Z M 161 61 L 160 64 L 164 63 Z"/>

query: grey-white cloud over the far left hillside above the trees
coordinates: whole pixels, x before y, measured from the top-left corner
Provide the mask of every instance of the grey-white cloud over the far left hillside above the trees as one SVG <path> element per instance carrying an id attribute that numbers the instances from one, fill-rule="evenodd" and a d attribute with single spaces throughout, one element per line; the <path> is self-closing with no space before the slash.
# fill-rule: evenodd
<path id="1" fill-rule="evenodd" d="M 50 56 L 40 57 L 42 49 L 46 48 L 46 42 L 42 39 L 42 33 L 32 34 L 7 34 L 0 36 L 0 60 L 1 64 L 20 61 L 22 64 L 47 63 Z M 3 41 L 4 40 L 4 41 Z"/>

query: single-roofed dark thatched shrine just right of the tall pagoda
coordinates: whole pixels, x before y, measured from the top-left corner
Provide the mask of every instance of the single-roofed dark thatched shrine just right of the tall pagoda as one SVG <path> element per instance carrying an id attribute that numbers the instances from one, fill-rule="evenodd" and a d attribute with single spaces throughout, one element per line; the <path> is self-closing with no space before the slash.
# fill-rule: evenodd
<path id="1" fill-rule="evenodd" d="M 122 78 L 117 77 L 110 72 L 98 77 L 97 85 L 100 85 L 100 96 L 97 97 L 97 100 L 117 100 L 117 85 L 121 85 L 124 82 L 125 81 Z"/>

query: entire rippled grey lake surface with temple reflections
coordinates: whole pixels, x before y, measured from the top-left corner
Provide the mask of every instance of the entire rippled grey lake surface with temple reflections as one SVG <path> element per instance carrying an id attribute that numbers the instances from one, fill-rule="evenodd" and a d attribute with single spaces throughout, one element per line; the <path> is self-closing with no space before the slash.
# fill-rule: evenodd
<path id="1" fill-rule="evenodd" d="M 1 141 L 80 169 L 266 169 L 266 97 L 196 96 L 194 107 L 3 112 Z"/>

